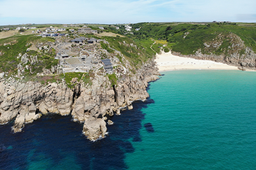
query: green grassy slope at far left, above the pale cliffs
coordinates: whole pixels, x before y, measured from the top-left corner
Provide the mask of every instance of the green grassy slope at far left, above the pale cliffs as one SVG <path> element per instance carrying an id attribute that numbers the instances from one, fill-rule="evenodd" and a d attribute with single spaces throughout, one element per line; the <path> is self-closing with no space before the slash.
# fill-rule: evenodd
<path id="1" fill-rule="evenodd" d="M 25 74 L 41 73 L 43 68 L 51 68 L 56 66 L 58 60 L 54 59 L 54 50 L 49 52 L 37 52 L 28 50 L 32 44 L 54 42 L 52 38 L 41 38 L 38 36 L 13 36 L 10 38 L 0 39 L 0 72 L 8 72 L 9 74 L 17 73 L 17 65 L 20 63 L 22 55 L 27 53 L 29 56 L 28 65 L 31 71 L 25 69 Z M 33 57 L 37 58 L 37 63 L 31 63 Z"/>

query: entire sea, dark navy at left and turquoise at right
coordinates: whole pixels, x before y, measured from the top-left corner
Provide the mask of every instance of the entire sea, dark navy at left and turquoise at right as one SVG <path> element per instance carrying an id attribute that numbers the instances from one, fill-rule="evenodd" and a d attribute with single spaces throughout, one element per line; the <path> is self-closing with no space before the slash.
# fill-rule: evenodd
<path id="1" fill-rule="evenodd" d="M 0 125 L 0 169 L 255 169 L 256 73 L 163 74 L 94 143 L 69 116 Z"/>

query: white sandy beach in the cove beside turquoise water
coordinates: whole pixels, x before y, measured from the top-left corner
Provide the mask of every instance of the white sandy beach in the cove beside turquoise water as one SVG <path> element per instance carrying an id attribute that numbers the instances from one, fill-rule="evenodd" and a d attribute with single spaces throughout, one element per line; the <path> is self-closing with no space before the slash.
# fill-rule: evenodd
<path id="1" fill-rule="evenodd" d="M 161 53 L 156 55 L 157 67 L 159 71 L 170 71 L 179 69 L 233 69 L 237 70 L 236 66 L 228 66 L 221 62 L 212 60 L 196 60 L 186 57 L 172 55 L 171 52 Z"/>

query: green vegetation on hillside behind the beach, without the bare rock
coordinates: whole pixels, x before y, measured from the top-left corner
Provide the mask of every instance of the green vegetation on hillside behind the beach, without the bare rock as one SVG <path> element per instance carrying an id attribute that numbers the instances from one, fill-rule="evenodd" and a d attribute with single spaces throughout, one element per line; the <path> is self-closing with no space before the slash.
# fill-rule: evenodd
<path id="1" fill-rule="evenodd" d="M 215 53 L 217 55 L 228 55 L 228 46 L 234 44 L 232 39 L 241 38 L 244 45 L 256 52 L 256 25 L 236 23 L 205 23 L 205 24 L 177 24 L 177 23 L 139 23 L 132 24 L 133 28 L 140 28 L 134 31 L 134 38 L 140 39 L 161 39 L 168 41 L 168 47 L 175 52 L 184 55 L 194 54 L 198 49 L 202 53 Z M 236 37 L 238 36 L 238 37 Z M 221 44 L 215 48 L 206 49 L 204 43 Z M 239 40 L 236 40 L 239 41 Z M 218 47 L 218 48 L 217 48 Z"/>

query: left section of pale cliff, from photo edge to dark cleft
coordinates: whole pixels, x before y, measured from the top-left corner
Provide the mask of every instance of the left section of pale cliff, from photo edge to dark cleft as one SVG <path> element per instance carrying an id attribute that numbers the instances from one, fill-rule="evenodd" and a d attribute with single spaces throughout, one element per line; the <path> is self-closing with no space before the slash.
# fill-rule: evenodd
<path id="1" fill-rule="evenodd" d="M 41 117 L 41 113 L 49 112 L 68 115 L 71 111 L 73 93 L 65 82 L 41 83 L 28 81 L 0 80 L 0 124 L 7 124 L 15 118 L 14 132 L 20 132 L 25 124 Z"/>

